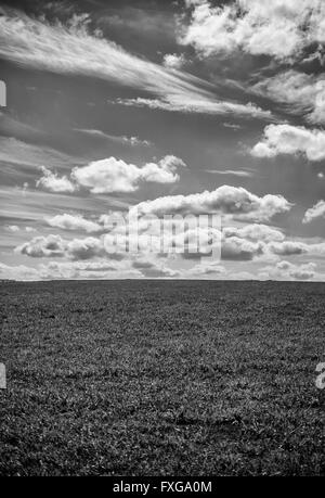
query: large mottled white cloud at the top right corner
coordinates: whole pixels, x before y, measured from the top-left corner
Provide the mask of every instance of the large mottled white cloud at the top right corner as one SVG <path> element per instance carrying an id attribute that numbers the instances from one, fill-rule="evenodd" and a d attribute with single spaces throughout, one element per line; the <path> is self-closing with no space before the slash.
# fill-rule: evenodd
<path id="1" fill-rule="evenodd" d="M 179 35 L 200 56 L 243 50 L 294 62 L 325 39 L 323 0 L 235 0 L 212 7 L 208 0 L 185 1 L 190 24 Z"/>

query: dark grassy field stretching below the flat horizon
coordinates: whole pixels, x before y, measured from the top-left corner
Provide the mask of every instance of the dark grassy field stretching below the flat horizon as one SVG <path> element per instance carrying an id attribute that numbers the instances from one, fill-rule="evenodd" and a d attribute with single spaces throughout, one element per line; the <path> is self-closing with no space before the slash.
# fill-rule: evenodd
<path id="1" fill-rule="evenodd" d="M 4 283 L 0 299 L 0 474 L 325 474 L 325 284 Z"/>

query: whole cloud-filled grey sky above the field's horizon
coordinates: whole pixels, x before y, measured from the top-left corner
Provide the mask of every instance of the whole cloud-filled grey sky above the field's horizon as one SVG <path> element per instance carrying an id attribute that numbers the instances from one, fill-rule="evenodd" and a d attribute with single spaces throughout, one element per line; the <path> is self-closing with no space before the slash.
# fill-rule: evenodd
<path id="1" fill-rule="evenodd" d="M 0 279 L 324 281 L 324 65 L 323 0 L 0 2 Z"/>

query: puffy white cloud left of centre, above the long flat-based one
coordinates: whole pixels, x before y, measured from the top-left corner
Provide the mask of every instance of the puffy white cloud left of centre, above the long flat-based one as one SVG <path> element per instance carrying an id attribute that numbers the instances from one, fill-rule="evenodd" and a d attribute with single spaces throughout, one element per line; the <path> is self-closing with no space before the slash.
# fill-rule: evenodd
<path id="1" fill-rule="evenodd" d="M 37 181 L 51 192 L 73 193 L 82 187 L 91 193 L 135 192 L 142 182 L 174 183 L 179 181 L 179 167 L 185 164 L 179 157 L 166 155 L 158 163 L 146 163 L 143 167 L 128 164 L 116 157 L 93 161 L 87 166 L 75 167 L 70 179 L 58 177 L 42 167 L 43 176 Z"/>

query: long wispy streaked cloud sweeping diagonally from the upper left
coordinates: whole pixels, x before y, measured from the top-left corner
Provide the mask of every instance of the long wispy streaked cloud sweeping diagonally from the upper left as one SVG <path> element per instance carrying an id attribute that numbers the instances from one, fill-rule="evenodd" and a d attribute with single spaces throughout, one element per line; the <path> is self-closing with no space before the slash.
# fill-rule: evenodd
<path id="1" fill-rule="evenodd" d="M 87 15 L 67 24 L 31 18 L 3 10 L 0 17 L 0 55 L 20 65 L 60 74 L 93 76 L 116 85 L 146 91 L 179 111 L 236 113 L 270 117 L 253 105 L 220 102 L 213 87 L 193 75 L 145 61 L 128 53 L 95 29 Z M 191 106 L 191 100 L 195 105 Z M 131 101 L 129 101 L 129 104 Z"/>

